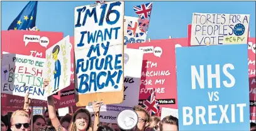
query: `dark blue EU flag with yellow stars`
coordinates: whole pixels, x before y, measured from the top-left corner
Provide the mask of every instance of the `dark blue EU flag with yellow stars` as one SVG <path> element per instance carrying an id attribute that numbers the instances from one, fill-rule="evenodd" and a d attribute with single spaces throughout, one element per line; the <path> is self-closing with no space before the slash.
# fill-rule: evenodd
<path id="1" fill-rule="evenodd" d="M 9 29 L 14 30 L 26 30 L 29 28 L 35 27 L 36 24 L 36 10 L 37 10 L 37 1 L 30 1 L 26 4 L 25 8 L 19 13 L 13 23 L 9 26 Z"/>

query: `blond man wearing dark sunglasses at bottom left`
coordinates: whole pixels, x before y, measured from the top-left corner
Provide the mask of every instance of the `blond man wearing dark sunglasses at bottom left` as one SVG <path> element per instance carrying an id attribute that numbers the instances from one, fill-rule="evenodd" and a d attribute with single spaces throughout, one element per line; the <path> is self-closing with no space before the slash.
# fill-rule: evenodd
<path id="1" fill-rule="evenodd" d="M 13 112 L 13 115 L 11 115 L 11 130 L 30 130 L 30 115 L 24 110 L 16 110 Z"/>

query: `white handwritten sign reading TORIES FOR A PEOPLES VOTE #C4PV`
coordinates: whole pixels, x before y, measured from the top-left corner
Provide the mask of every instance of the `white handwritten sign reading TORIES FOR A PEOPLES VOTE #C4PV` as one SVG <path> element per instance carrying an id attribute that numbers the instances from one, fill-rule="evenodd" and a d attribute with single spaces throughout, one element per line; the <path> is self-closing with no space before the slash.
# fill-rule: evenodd
<path id="1" fill-rule="evenodd" d="M 247 43 L 249 14 L 193 13 L 191 46 Z"/>

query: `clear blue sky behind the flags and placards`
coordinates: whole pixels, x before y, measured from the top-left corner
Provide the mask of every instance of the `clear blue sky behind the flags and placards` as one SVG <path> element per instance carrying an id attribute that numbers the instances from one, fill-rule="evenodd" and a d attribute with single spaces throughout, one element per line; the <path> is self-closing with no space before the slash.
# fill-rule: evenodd
<path id="1" fill-rule="evenodd" d="M 125 16 L 138 17 L 133 6 L 151 1 L 126 1 Z M 28 1 L 1 1 L 1 30 L 9 25 Z M 74 36 L 74 8 L 95 1 L 38 1 L 36 26 L 40 31 Z M 153 1 L 147 38 L 186 38 L 192 13 L 250 14 L 250 36 L 255 37 L 255 1 Z"/>

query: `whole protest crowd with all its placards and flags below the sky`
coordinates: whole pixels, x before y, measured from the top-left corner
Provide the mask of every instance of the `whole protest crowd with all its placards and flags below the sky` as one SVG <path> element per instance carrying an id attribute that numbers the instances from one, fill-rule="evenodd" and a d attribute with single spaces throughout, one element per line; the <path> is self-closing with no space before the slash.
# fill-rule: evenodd
<path id="1" fill-rule="evenodd" d="M 96 1 L 75 8 L 63 38 L 35 26 L 37 3 L 1 31 L 1 131 L 256 131 L 249 14 L 194 13 L 187 38 L 147 41 L 153 3 L 134 6 L 135 18 L 123 1 Z"/>

